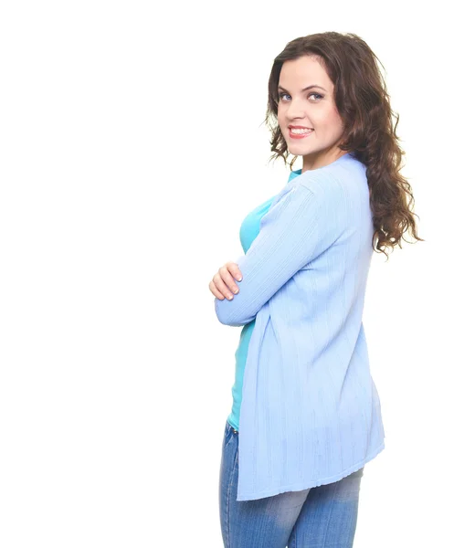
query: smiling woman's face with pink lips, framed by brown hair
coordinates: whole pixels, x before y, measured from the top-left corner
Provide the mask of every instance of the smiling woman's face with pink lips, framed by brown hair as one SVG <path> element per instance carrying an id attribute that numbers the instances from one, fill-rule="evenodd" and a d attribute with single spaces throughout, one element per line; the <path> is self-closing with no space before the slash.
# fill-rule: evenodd
<path id="1" fill-rule="evenodd" d="M 289 152 L 303 157 L 302 173 L 328 165 L 345 153 L 337 146 L 343 135 L 343 121 L 333 102 L 332 80 L 316 58 L 303 56 L 285 61 L 278 93 L 280 131 Z M 311 131 L 294 133 L 290 126 Z"/>

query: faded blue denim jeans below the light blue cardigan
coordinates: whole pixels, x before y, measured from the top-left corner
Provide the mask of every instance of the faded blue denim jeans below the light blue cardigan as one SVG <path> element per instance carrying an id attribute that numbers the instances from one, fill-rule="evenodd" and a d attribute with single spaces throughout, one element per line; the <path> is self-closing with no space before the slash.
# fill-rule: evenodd
<path id="1" fill-rule="evenodd" d="M 225 548 L 351 548 L 364 468 L 339 481 L 237 501 L 238 432 L 226 421 L 219 471 Z"/>

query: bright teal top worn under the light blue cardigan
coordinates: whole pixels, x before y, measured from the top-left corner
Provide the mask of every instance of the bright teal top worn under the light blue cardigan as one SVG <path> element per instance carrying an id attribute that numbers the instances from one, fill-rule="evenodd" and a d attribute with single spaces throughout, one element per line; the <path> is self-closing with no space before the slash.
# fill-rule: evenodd
<path id="1" fill-rule="evenodd" d="M 289 182 L 301 174 L 301 169 L 297 171 L 290 172 Z M 260 229 L 260 219 L 266 215 L 269 211 L 270 204 L 275 198 L 275 195 L 266 200 L 261 205 L 258 205 L 253 209 L 243 220 L 241 227 L 239 229 L 239 239 L 244 253 L 248 252 L 248 248 L 254 241 L 254 238 L 258 236 Z M 235 381 L 232 387 L 233 395 L 233 407 L 231 414 L 227 417 L 227 422 L 235 430 L 239 429 L 239 411 L 241 407 L 241 396 L 242 396 L 242 383 L 244 379 L 244 367 L 246 365 L 246 358 L 248 357 L 248 345 L 250 341 L 250 336 L 254 330 L 254 325 L 256 320 L 249 321 L 246 325 L 243 326 L 240 337 L 239 344 L 237 345 L 237 351 L 234 354 L 236 358 L 236 370 L 235 370 Z"/>

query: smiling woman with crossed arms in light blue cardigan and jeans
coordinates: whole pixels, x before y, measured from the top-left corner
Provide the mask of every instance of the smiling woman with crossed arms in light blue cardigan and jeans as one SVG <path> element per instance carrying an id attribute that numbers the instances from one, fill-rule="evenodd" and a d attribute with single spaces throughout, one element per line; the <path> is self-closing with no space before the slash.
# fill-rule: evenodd
<path id="1" fill-rule="evenodd" d="M 364 291 L 374 250 L 408 227 L 423 240 L 376 59 L 336 32 L 274 59 L 272 158 L 302 167 L 244 219 L 245 255 L 209 284 L 218 320 L 244 326 L 219 479 L 225 546 L 352 546 L 364 465 L 385 448 Z"/>

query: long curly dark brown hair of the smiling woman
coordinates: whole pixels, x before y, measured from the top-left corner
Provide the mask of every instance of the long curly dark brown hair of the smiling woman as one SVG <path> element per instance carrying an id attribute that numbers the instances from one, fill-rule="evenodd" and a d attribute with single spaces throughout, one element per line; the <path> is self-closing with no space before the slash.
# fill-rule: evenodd
<path id="1" fill-rule="evenodd" d="M 408 229 L 417 240 L 425 241 L 417 237 L 416 214 L 411 211 L 414 204 L 411 185 L 399 173 L 401 158 L 406 154 L 396 135 L 399 115 L 393 126 L 395 114 L 377 61 L 383 65 L 361 37 L 338 32 L 299 37 L 291 40 L 274 58 L 264 120 L 271 132 L 273 154 L 269 161 L 281 157 L 286 165 L 288 163 L 290 153 L 277 122 L 280 69 L 285 61 L 302 56 L 316 58 L 332 80 L 335 105 L 343 121 L 340 149 L 353 153 L 366 166 L 375 228 L 374 250 L 383 251 L 387 260 L 385 248 L 396 245 L 402 248 L 401 238 Z M 297 157 L 291 160 L 290 169 Z"/>

